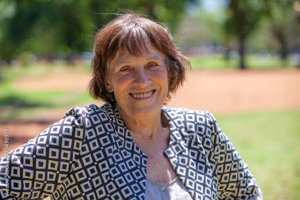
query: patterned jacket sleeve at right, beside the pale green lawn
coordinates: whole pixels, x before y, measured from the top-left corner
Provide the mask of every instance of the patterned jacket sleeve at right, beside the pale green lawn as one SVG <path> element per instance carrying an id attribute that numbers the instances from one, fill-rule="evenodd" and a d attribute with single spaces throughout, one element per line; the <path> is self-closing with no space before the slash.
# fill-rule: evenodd
<path id="1" fill-rule="evenodd" d="M 218 127 L 214 116 L 211 113 L 208 113 L 208 116 L 216 162 L 215 173 L 218 180 L 219 199 L 256 199 L 256 194 L 260 189 L 248 165 L 244 163 L 228 137 Z"/>

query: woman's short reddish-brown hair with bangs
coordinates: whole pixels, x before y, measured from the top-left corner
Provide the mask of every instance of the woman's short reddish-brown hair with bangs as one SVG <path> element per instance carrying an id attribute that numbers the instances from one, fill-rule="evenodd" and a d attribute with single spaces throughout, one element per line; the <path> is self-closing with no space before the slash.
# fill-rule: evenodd
<path id="1" fill-rule="evenodd" d="M 170 77 L 167 100 L 186 80 L 185 68 L 190 69 L 190 61 L 176 46 L 170 32 L 152 19 L 129 12 L 103 26 L 95 36 L 91 68 L 92 79 L 88 91 L 95 100 L 115 102 L 113 92 L 106 89 L 109 62 L 118 50 L 127 49 L 131 55 L 141 55 L 152 44 L 165 55 Z"/>

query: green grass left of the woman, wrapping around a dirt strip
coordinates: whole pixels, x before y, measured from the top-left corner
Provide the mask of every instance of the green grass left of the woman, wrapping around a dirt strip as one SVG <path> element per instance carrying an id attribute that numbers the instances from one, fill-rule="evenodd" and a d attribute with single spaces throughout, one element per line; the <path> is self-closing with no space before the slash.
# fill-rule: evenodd
<path id="1" fill-rule="evenodd" d="M 41 109 L 70 108 L 82 103 L 91 101 L 91 97 L 82 91 L 78 95 L 76 91 L 32 91 L 30 94 L 13 87 L 13 80 L 17 77 L 42 77 L 46 75 L 63 74 L 63 73 L 80 73 L 87 72 L 89 66 L 82 64 L 80 66 L 54 64 L 38 64 L 35 67 L 3 67 L 0 82 L 0 121 L 7 121 L 15 118 L 28 118 L 28 113 Z M 74 98 L 76 97 L 76 98 Z M 16 105 L 16 101 L 21 103 L 13 109 L 11 106 Z M 13 110 L 13 112 L 10 112 Z M 14 112 L 14 111 L 17 112 Z"/>

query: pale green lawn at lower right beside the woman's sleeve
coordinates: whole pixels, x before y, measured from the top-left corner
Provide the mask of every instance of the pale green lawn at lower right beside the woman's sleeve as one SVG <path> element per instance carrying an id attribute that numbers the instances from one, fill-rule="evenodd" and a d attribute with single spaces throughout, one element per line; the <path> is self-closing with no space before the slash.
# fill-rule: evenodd
<path id="1" fill-rule="evenodd" d="M 216 119 L 248 164 L 262 189 L 264 199 L 278 199 L 284 193 L 288 195 L 286 199 L 298 199 L 299 110 L 217 116 Z M 289 186 L 294 183 L 295 189 L 292 190 Z"/>

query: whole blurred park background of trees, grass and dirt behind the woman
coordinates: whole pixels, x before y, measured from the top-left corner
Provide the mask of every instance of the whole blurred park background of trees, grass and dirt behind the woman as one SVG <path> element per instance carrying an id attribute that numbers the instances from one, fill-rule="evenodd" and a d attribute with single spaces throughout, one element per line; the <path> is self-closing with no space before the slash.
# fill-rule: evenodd
<path id="1" fill-rule="evenodd" d="M 1 0 L 0 154 L 28 142 L 86 93 L 93 37 L 124 10 L 167 26 L 190 58 L 167 106 L 208 110 L 264 199 L 300 197 L 300 3 L 290 0 Z"/>

